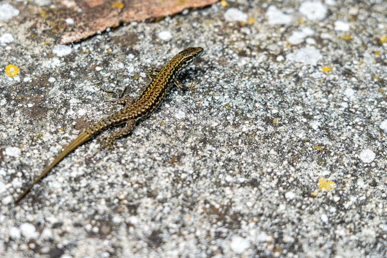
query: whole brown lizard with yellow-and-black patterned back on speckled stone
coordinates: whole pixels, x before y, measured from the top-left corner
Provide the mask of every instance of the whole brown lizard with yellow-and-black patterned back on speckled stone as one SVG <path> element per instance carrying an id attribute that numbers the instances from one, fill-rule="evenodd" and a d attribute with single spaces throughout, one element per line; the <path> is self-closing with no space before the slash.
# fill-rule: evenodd
<path id="1" fill-rule="evenodd" d="M 140 95 L 135 100 L 132 97 L 128 97 L 128 95 L 119 99 L 117 103 L 125 104 L 124 109 L 100 120 L 81 132 L 78 137 L 75 138 L 50 163 L 50 165 L 43 170 L 43 172 L 27 187 L 27 189 L 20 194 L 15 203 L 22 200 L 30 189 L 68 154 L 95 136 L 97 133 L 113 126 L 125 124 L 123 129 L 119 129 L 110 135 L 101 138 L 107 138 L 101 148 L 106 145 L 109 148 L 113 145 L 115 139 L 129 134 L 138 121 L 149 117 L 160 106 L 168 90 L 173 85 L 176 85 L 183 90 L 187 90 L 187 87 L 177 79 L 177 75 L 183 68 L 191 64 L 202 53 L 202 47 L 187 47 L 177 53 L 161 70 L 154 67 L 148 69 L 147 73 L 152 81 L 144 88 Z"/>

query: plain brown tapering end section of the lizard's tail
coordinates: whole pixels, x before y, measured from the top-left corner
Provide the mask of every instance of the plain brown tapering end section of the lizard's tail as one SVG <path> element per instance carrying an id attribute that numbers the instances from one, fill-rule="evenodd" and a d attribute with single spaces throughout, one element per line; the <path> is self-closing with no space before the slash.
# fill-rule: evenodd
<path id="1" fill-rule="evenodd" d="M 43 176 L 48 173 L 53 167 L 55 167 L 56 164 L 58 164 L 61 160 L 63 160 L 64 157 L 66 157 L 70 152 L 75 150 L 78 146 L 80 146 L 82 143 L 87 141 L 93 136 L 88 129 L 81 132 L 81 134 L 73 140 L 59 155 L 56 157 L 51 164 L 32 182 L 27 189 L 17 198 L 15 203 L 18 203 L 23 197 L 30 191 L 30 189 L 40 180 L 43 178 Z"/>

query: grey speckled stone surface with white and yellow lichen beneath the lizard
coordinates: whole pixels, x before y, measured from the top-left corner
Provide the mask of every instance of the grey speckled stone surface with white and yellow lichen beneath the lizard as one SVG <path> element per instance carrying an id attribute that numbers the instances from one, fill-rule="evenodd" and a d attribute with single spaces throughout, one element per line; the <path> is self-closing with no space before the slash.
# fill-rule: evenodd
<path id="1" fill-rule="evenodd" d="M 22 13 L 0 20 L 0 256 L 386 257 L 386 12 L 222 0 L 68 47 Z M 94 155 L 114 129 L 13 204 L 122 108 L 102 89 L 138 95 L 187 46 L 205 52 L 180 80 L 200 88 L 172 88 L 108 152 Z"/>

